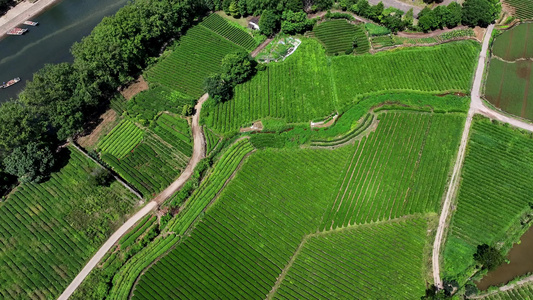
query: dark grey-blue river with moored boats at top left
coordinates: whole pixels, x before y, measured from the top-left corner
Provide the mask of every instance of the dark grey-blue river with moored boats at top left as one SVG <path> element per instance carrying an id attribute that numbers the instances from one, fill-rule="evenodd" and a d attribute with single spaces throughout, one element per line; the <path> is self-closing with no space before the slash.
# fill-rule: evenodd
<path id="1" fill-rule="evenodd" d="M 47 63 L 72 62 L 70 47 L 87 36 L 100 21 L 116 13 L 128 0 L 63 0 L 31 20 L 39 26 L 23 36 L 0 40 L 0 83 L 15 77 L 21 82 L 0 89 L 0 103 L 15 98 L 33 73 Z"/>

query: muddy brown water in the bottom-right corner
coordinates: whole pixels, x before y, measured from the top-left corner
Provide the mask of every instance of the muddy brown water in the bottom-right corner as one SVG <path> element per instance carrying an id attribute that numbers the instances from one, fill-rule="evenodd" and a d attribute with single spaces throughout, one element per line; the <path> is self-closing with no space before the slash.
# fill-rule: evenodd
<path id="1" fill-rule="evenodd" d="M 486 290 L 489 286 L 500 285 L 509 282 L 517 276 L 533 272 L 533 227 L 522 235 L 521 243 L 513 245 L 507 258 L 509 264 L 503 264 L 496 270 L 489 272 L 476 285 L 480 290 Z"/>

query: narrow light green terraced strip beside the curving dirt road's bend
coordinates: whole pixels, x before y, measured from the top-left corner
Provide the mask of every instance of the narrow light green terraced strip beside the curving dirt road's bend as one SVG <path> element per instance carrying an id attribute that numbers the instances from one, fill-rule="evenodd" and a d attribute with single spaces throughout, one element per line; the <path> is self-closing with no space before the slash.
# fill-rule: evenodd
<path id="1" fill-rule="evenodd" d="M 231 174 L 235 172 L 244 156 L 253 150 L 247 139 L 240 140 L 230 147 L 213 168 L 209 176 L 202 181 L 201 186 L 195 190 L 187 201 L 185 208 L 180 212 L 175 222 L 171 225 L 174 232 L 182 235 L 189 228 L 200 212 L 224 186 Z"/>

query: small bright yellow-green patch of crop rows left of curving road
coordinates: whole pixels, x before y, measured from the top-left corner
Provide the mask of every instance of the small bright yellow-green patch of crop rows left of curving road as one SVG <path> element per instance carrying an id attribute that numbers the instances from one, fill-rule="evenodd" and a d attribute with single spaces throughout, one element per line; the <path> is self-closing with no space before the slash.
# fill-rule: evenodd
<path id="1" fill-rule="evenodd" d="M 135 148 L 142 138 L 143 131 L 137 125 L 129 120 L 123 120 L 102 139 L 98 149 L 121 159 Z"/>

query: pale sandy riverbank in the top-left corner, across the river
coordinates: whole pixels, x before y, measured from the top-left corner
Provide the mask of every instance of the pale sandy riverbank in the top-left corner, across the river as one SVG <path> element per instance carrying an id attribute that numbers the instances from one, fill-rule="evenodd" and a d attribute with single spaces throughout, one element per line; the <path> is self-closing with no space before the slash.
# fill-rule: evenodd
<path id="1" fill-rule="evenodd" d="M 24 1 L 10 9 L 0 17 L 0 39 L 7 36 L 7 32 L 24 21 L 35 17 L 43 10 L 60 0 L 38 0 L 35 3 Z"/>

